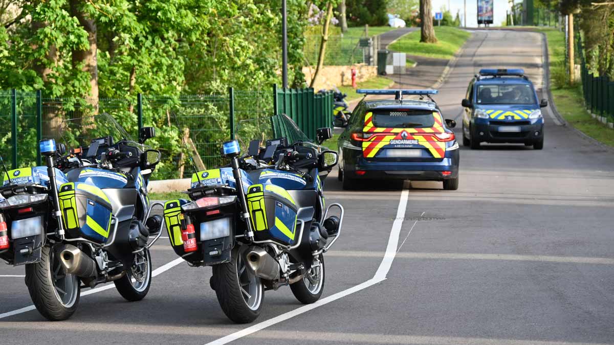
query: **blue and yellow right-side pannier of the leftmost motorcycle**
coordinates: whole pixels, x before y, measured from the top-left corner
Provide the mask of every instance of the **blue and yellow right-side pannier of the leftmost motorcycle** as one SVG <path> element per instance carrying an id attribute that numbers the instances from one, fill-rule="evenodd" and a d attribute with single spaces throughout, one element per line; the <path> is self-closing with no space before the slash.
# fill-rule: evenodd
<path id="1" fill-rule="evenodd" d="M 69 182 L 60 186 L 60 209 L 66 233 L 104 243 L 111 230 L 111 201 L 93 185 Z"/>

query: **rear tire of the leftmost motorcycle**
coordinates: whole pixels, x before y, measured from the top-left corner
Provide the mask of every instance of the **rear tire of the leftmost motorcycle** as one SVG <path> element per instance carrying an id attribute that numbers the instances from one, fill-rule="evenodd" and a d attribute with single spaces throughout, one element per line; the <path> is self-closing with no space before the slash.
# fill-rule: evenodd
<path id="1" fill-rule="evenodd" d="M 47 320 L 66 320 L 77 309 L 79 278 L 64 273 L 51 246 L 42 247 L 40 262 L 26 265 L 25 281 L 34 306 Z"/>

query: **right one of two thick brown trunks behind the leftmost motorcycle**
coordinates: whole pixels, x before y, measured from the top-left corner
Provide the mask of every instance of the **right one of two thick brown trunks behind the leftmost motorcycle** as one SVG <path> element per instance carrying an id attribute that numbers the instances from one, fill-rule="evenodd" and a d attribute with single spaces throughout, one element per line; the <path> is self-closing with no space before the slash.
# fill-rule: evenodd
<path id="1" fill-rule="evenodd" d="M 77 67 L 82 64 L 84 72 L 90 74 L 90 95 L 88 103 L 94 108 L 94 113 L 98 113 L 98 41 L 96 41 L 96 21 L 90 19 L 82 8 L 82 1 L 71 0 L 71 14 L 79 20 L 79 24 L 87 32 L 87 40 L 90 46 L 85 50 L 74 50 L 72 52 L 72 66 Z"/>

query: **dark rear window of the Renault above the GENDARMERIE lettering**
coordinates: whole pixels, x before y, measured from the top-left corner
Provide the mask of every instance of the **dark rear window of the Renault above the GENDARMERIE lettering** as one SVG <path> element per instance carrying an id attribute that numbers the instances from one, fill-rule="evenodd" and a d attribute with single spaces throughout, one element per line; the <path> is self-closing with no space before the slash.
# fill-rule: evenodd
<path id="1" fill-rule="evenodd" d="M 385 128 L 430 128 L 435 125 L 433 110 L 373 110 L 373 125 Z"/>

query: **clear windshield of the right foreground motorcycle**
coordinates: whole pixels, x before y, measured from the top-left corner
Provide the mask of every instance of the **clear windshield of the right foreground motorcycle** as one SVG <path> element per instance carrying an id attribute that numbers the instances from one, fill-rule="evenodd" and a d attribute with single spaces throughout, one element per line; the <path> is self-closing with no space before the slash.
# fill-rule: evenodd
<path id="1" fill-rule="evenodd" d="M 241 142 L 242 149 L 246 149 L 249 142 L 254 139 L 266 142 L 280 138 L 287 138 L 290 145 L 297 142 L 312 142 L 286 114 L 251 118 L 240 121 L 237 125 L 236 139 Z"/>

